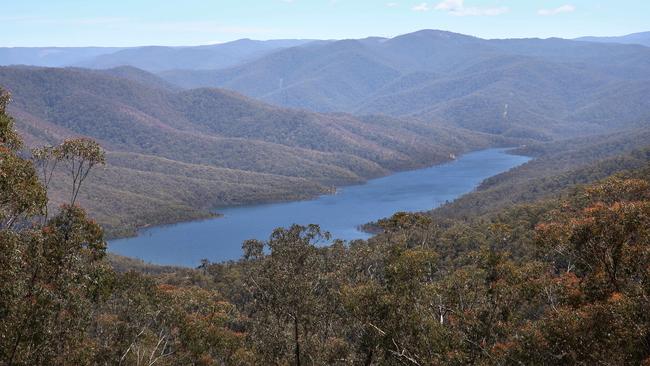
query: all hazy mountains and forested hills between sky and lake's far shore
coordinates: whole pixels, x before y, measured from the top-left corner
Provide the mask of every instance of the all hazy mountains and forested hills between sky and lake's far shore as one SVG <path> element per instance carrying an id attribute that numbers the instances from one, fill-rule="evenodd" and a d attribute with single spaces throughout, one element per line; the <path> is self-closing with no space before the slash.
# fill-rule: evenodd
<path id="1" fill-rule="evenodd" d="M 0 67 L 0 86 L 30 145 L 84 135 L 108 150 L 84 205 L 111 233 L 311 197 L 485 147 L 643 137 L 650 123 L 641 45 L 424 30 L 56 50 L 0 49 L 0 63 L 75 66 Z"/>

